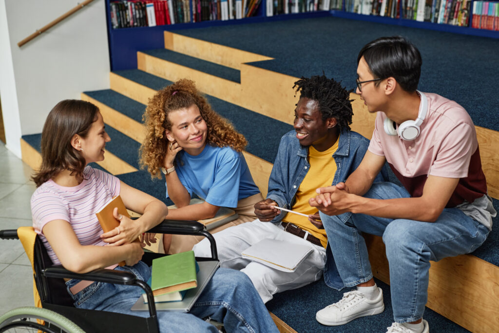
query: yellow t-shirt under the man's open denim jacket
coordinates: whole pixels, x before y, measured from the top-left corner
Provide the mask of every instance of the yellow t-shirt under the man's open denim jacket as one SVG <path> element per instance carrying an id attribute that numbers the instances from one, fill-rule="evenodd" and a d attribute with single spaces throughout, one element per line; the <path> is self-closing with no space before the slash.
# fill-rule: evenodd
<path id="1" fill-rule="evenodd" d="M 331 148 L 325 151 L 317 151 L 312 146 L 308 148 L 310 169 L 301 182 L 300 187 L 298 187 L 298 191 L 296 191 L 296 201 L 293 207 L 291 207 L 291 210 L 307 215 L 318 212 L 317 208 L 311 207 L 308 204 L 308 199 L 317 195 L 315 189 L 318 187 L 331 186 L 334 174 L 336 173 L 336 163 L 334 162 L 332 155 L 336 152 L 336 149 L 338 149 L 338 142 L 339 138 Z M 320 240 L 323 247 L 326 247 L 326 231 L 324 229 L 317 229 L 317 227 L 308 221 L 306 217 L 287 213 L 282 221 L 292 223 L 301 229 L 308 231 Z"/>

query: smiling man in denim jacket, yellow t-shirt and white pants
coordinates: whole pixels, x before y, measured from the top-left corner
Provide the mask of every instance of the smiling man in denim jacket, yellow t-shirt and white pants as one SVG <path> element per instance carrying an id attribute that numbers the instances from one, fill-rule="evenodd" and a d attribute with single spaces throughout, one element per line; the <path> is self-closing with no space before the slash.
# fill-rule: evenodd
<path id="1" fill-rule="evenodd" d="M 369 140 L 350 131 L 350 94 L 340 83 L 322 75 L 301 78 L 294 87 L 300 92 L 294 130 L 281 138 L 267 199 L 255 204 L 259 219 L 214 235 L 222 267 L 246 273 L 263 302 L 275 293 L 320 279 L 324 266 L 327 284 L 341 281 L 330 250 L 326 252 L 328 240 L 318 221 L 318 210 L 310 207 L 308 200 L 316 195 L 316 188 L 343 182 L 369 146 Z M 306 214 L 308 219 L 281 212 L 277 206 Z M 313 252 L 292 273 L 241 257 L 243 251 L 265 238 L 308 245 Z M 202 241 L 194 252 L 196 256 L 207 255 L 209 243 Z"/>

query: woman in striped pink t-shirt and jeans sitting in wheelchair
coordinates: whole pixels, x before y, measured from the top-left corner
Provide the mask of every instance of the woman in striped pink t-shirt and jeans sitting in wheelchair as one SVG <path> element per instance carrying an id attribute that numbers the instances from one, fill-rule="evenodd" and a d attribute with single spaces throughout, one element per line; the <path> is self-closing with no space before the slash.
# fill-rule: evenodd
<path id="1" fill-rule="evenodd" d="M 77 273 L 99 268 L 129 271 L 147 281 L 151 268 L 140 261 L 141 244 L 133 242 L 159 224 L 166 206 L 118 178 L 88 166 L 104 160 L 105 131 L 98 108 L 85 101 L 64 100 L 49 113 L 41 138 L 42 164 L 33 180 L 33 226 L 54 264 Z M 125 206 L 142 216 L 133 221 L 114 211 L 120 226 L 103 234 L 95 213 L 120 195 Z M 147 235 L 147 234 L 146 234 Z M 116 263 L 125 261 L 126 265 Z M 130 309 L 141 295 L 139 287 L 66 282 L 77 308 L 148 317 Z M 219 269 L 190 313 L 158 312 L 161 332 L 218 332 L 201 318 L 223 322 L 228 332 L 277 332 L 250 280 L 237 271 Z"/>

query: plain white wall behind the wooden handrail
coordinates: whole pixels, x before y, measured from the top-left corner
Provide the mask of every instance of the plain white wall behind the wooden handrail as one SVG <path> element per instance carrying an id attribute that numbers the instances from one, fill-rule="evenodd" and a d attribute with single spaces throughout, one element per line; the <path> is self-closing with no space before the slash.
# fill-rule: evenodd
<path id="1" fill-rule="evenodd" d="M 0 0 L 1 106 L 6 146 L 17 156 L 20 136 L 40 133 L 58 101 L 109 88 L 104 0 L 94 0 L 17 46 L 76 4 L 76 0 Z"/>

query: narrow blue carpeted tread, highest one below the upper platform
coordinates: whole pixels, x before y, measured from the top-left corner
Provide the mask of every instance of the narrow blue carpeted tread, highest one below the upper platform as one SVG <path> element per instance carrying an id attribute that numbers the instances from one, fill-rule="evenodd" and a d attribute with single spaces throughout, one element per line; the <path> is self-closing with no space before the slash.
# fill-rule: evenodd
<path id="1" fill-rule="evenodd" d="M 241 83 L 241 72 L 238 69 L 219 65 L 214 62 L 202 60 L 190 55 L 185 55 L 179 52 L 168 50 L 166 48 L 159 48 L 155 50 L 141 51 L 142 53 L 160 58 L 166 61 L 174 62 L 176 64 L 186 66 L 192 69 L 199 70 L 229 81 Z"/>

